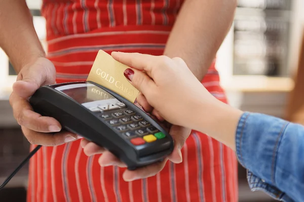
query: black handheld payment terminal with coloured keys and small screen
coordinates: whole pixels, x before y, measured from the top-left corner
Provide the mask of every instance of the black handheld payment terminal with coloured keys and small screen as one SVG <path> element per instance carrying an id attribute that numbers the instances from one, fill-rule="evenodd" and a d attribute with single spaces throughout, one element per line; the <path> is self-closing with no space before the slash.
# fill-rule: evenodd
<path id="1" fill-rule="evenodd" d="M 129 170 L 162 161 L 173 150 L 172 137 L 155 120 L 94 82 L 42 86 L 29 102 L 35 112 L 109 150 Z"/>

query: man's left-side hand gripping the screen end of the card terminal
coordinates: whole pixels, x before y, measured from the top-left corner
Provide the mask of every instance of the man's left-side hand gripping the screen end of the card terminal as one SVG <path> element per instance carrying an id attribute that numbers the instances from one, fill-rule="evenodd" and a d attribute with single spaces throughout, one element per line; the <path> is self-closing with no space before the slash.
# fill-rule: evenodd
<path id="1" fill-rule="evenodd" d="M 78 139 L 70 132 L 59 132 L 61 125 L 51 117 L 33 112 L 28 98 L 42 85 L 54 84 L 55 67 L 46 58 L 37 58 L 23 67 L 13 85 L 10 104 L 14 117 L 31 144 L 55 146 Z"/>

